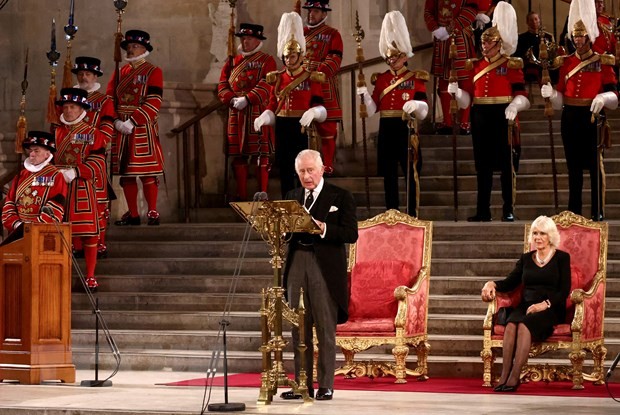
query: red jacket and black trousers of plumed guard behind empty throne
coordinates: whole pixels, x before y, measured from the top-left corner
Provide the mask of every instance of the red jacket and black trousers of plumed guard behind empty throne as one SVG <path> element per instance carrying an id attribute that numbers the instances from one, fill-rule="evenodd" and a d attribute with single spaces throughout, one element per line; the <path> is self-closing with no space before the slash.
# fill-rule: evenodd
<path id="1" fill-rule="evenodd" d="M 398 209 L 398 166 L 403 172 L 413 174 L 412 165 L 408 166 L 409 129 L 403 120 L 403 105 L 409 100 L 427 102 L 426 82 L 429 74 L 426 71 L 410 71 L 406 67 L 394 72 L 387 70 L 381 74 L 373 74 L 374 85 L 372 99 L 377 105 L 381 116 L 379 121 L 379 137 L 377 142 L 378 174 L 383 176 L 386 209 Z M 417 148 L 416 172 L 422 169 L 422 152 Z M 419 184 L 417 180 L 409 180 L 409 215 L 418 217 Z"/>

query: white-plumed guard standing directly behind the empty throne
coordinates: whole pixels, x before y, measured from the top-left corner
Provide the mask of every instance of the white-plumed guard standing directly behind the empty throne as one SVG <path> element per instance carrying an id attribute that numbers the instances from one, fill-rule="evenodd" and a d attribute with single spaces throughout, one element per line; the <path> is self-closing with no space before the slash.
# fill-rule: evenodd
<path id="1" fill-rule="evenodd" d="M 426 71 L 407 69 L 413 56 L 405 18 L 398 11 L 385 15 L 381 25 L 379 51 L 389 69 L 371 77 L 372 97 L 366 87 L 357 89 L 364 96 L 368 115 L 379 112 L 377 166 L 383 176 L 386 209 L 398 209 L 398 166 L 409 184 L 407 214 L 417 217 L 420 204 L 418 175 L 422 169 L 422 152 L 417 131 L 411 128 L 413 118 L 423 120 L 428 114 Z"/>

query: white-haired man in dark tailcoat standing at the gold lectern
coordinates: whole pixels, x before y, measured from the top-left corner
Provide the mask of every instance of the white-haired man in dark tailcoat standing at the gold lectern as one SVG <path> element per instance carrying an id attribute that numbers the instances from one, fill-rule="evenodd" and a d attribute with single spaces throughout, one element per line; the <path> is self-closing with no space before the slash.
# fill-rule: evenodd
<path id="1" fill-rule="evenodd" d="M 300 289 L 304 290 L 305 332 L 308 348 L 304 368 L 313 372 L 312 326 L 319 340 L 317 400 L 333 396 L 336 366 L 336 324 L 348 319 L 349 289 L 347 283 L 346 243 L 357 241 L 357 217 L 353 195 L 323 179 L 325 167 L 321 154 L 303 150 L 295 159 L 295 170 L 302 187 L 291 190 L 288 200 L 297 200 L 312 215 L 322 234 L 295 233 L 289 242 L 284 268 L 284 286 L 291 307 L 299 305 Z M 301 355 L 297 350 L 299 330 L 293 328 L 295 379 L 299 382 Z M 312 382 L 308 392 L 314 397 Z M 300 399 L 295 390 L 283 392 L 283 399 Z"/>

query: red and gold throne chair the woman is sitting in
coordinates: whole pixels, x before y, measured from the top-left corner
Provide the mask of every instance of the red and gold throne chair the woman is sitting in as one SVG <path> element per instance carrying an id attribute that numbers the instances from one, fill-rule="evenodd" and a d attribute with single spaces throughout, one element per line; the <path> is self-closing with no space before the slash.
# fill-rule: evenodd
<path id="1" fill-rule="evenodd" d="M 596 385 L 604 383 L 603 362 L 607 349 L 603 336 L 605 318 L 605 280 L 607 274 L 607 223 L 593 222 L 572 212 L 562 212 L 551 219 L 560 232 L 559 249 L 571 256 L 571 291 L 566 300 L 566 321 L 555 326 L 553 334 L 541 343 L 532 343 L 530 357 L 546 352 L 566 350 L 571 366 L 527 364 L 521 379 L 532 381 L 571 380 L 573 389 L 583 389 L 583 380 Z M 533 250 L 528 244 L 530 225 L 525 226 L 524 252 Z M 497 293 L 489 302 L 484 319 L 484 344 L 480 353 L 484 363 L 483 386 L 491 386 L 491 369 L 496 354 L 501 355 L 504 326 L 495 324 L 498 310 L 516 305 L 521 290 Z M 591 373 L 583 373 L 587 353 L 594 366 Z"/>

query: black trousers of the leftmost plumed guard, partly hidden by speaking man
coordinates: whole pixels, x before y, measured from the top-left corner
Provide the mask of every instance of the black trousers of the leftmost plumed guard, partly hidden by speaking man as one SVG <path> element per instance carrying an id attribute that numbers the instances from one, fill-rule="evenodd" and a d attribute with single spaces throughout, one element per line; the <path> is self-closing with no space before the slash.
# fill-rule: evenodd
<path id="1" fill-rule="evenodd" d="M 280 190 L 282 199 L 286 194 L 299 187 L 299 178 L 295 172 L 295 157 L 301 150 L 308 148 L 308 136 L 301 132 L 300 118 L 276 117 L 276 154 L 275 161 L 280 167 Z"/>

